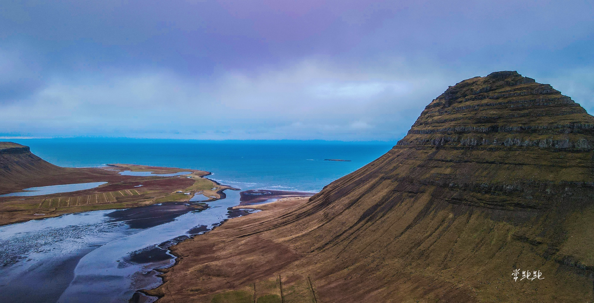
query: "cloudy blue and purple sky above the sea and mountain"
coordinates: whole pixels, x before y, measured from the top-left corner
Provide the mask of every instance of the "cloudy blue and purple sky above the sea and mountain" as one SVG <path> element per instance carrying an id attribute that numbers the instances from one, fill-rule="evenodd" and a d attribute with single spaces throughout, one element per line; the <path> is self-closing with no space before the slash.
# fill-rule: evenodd
<path id="1" fill-rule="evenodd" d="M 393 141 L 501 70 L 592 113 L 593 3 L 3 0 L 0 137 Z"/>

